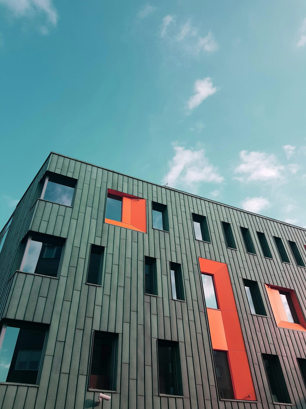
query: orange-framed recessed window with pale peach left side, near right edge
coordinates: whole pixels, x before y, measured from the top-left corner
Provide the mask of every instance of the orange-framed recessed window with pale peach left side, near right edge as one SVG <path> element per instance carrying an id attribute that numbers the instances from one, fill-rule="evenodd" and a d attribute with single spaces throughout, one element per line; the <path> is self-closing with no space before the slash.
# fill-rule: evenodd
<path id="1" fill-rule="evenodd" d="M 294 290 L 265 284 L 276 325 L 306 331 L 306 321 Z"/>

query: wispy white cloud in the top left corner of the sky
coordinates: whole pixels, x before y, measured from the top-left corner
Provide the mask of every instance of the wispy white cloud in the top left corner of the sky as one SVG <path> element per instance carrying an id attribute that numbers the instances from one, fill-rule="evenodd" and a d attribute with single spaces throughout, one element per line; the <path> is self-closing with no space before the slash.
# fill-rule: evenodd
<path id="1" fill-rule="evenodd" d="M 32 17 L 44 13 L 52 25 L 56 25 L 58 21 L 58 13 L 52 0 L 0 0 L 0 4 L 8 7 L 16 17 Z"/>

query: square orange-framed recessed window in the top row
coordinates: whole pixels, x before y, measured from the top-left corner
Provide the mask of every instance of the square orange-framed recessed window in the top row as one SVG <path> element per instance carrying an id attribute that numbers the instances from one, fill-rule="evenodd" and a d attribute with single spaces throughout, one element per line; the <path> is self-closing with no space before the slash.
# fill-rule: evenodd
<path id="1" fill-rule="evenodd" d="M 146 233 L 146 199 L 108 189 L 104 221 Z"/>

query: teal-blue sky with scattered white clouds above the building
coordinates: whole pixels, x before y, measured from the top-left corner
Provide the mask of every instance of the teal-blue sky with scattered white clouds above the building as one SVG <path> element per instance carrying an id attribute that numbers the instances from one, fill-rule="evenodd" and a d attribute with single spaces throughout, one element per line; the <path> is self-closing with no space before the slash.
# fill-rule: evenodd
<path id="1" fill-rule="evenodd" d="M 1 227 L 51 151 L 306 227 L 305 68 L 304 0 L 0 0 Z"/>

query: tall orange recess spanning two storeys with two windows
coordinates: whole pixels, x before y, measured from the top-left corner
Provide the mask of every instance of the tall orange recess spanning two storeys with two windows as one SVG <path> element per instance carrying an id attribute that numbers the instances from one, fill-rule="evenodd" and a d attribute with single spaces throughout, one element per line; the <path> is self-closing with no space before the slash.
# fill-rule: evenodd
<path id="1" fill-rule="evenodd" d="M 220 398 L 256 400 L 227 264 L 201 257 L 199 263 Z M 224 380 L 220 375 L 222 362 L 218 361 L 221 359 L 218 358 L 219 355 L 224 358 L 224 362 L 228 361 L 226 367 L 229 369 L 231 379 L 228 379 L 226 385 L 227 389 L 232 387 L 231 393 L 224 392 Z"/>

